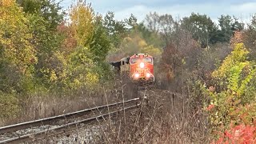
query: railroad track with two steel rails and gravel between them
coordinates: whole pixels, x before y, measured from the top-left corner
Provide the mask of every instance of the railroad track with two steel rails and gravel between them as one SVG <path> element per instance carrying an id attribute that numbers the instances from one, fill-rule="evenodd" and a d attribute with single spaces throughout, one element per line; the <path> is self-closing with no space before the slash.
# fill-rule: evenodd
<path id="1" fill-rule="evenodd" d="M 134 98 L 106 106 L 97 106 L 69 114 L 0 127 L 0 143 L 31 142 L 35 139 L 46 138 L 50 134 L 61 134 L 67 128 L 72 129 L 72 127 L 76 127 L 78 124 L 98 122 L 123 110 L 134 109 L 140 105 L 139 102 L 140 98 Z"/>

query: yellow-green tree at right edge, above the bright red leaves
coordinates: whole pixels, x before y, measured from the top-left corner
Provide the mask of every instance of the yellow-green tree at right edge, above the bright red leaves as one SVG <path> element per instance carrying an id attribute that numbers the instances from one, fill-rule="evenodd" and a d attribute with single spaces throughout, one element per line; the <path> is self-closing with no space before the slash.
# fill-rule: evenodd
<path id="1" fill-rule="evenodd" d="M 247 60 L 247 54 L 249 51 L 243 43 L 234 43 L 234 50 L 212 73 L 216 91 L 206 93 L 215 107 L 210 111 L 214 129 L 229 127 L 233 122 L 254 125 L 256 69 L 254 62 Z"/>

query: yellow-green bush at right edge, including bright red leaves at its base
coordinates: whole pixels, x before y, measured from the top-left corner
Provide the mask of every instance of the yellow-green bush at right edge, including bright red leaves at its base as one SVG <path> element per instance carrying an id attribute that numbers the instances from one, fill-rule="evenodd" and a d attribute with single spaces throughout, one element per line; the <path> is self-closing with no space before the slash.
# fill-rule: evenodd
<path id="1" fill-rule="evenodd" d="M 210 124 L 218 134 L 219 142 L 253 142 L 255 137 L 256 102 L 254 62 L 247 60 L 249 54 L 243 43 L 234 44 L 234 50 L 212 74 L 214 90 L 206 89 L 210 96 Z M 216 138 L 216 137 L 215 137 Z"/>

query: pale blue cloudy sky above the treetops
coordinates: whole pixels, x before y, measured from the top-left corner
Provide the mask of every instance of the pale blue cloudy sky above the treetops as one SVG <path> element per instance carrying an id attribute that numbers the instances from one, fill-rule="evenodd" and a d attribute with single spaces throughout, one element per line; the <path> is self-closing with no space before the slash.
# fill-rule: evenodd
<path id="1" fill-rule="evenodd" d="M 74 0 L 62 0 L 65 10 Z M 146 18 L 146 14 L 156 11 L 158 14 L 171 14 L 173 18 L 190 16 L 192 12 L 208 15 L 214 22 L 222 14 L 234 15 L 242 22 L 250 22 L 256 14 L 256 0 L 86 0 L 91 3 L 94 12 L 105 15 L 113 11 L 115 19 L 122 20 L 134 14 L 138 22 Z"/>

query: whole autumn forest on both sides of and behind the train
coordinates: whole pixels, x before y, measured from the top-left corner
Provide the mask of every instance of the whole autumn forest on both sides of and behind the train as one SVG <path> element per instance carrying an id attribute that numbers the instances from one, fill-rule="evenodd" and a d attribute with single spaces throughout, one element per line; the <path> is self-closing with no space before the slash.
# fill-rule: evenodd
<path id="1" fill-rule="evenodd" d="M 52 0 L 2 0 L 0 36 L 0 126 L 60 114 L 56 107 L 81 94 L 98 97 L 113 89 L 109 62 L 147 53 L 158 89 L 186 95 L 206 121 L 200 142 L 256 142 L 256 14 L 249 23 L 196 12 L 118 21 L 86 2 L 62 10 Z"/>

